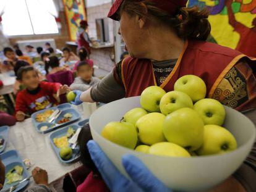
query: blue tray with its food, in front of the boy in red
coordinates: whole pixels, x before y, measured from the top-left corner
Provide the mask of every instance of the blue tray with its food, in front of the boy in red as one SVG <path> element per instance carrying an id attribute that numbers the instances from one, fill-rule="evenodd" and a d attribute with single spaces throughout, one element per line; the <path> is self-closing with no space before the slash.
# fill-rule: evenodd
<path id="1" fill-rule="evenodd" d="M 59 127 L 64 127 L 80 119 L 80 114 L 69 103 L 44 109 L 32 114 L 36 131 L 48 133 Z"/>

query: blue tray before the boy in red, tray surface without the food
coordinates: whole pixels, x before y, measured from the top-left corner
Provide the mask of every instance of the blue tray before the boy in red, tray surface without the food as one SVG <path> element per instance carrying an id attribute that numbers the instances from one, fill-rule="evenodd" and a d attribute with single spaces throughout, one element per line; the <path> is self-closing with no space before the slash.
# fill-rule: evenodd
<path id="1" fill-rule="evenodd" d="M 43 113 L 47 110 L 51 110 L 51 109 L 53 109 L 53 110 L 59 109 L 61 111 L 61 115 L 59 115 L 59 117 L 56 120 L 54 120 L 52 123 L 37 122 L 36 121 L 36 119 L 35 119 L 36 114 L 41 114 L 41 113 Z M 58 121 L 61 120 L 66 113 L 72 114 L 72 118 L 69 120 L 69 122 L 61 123 L 60 125 L 54 126 L 54 124 L 58 123 Z M 44 133 L 45 134 L 45 133 L 49 133 L 49 132 L 55 130 L 56 128 L 64 127 L 64 126 L 69 125 L 73 122 L 76 122 L 77 120 L 80 119 L 80 114 L 69 103 L 64 103 L 64 104 L 61 104 L 61 105 L 56 106 L 56 107 L 51 107 L 51 108 L 48 108 L 48 109 L 43 109 L 41 111 L 35 112 L 35 113 L 32 114 L 31 117 L 32 117 L 32 122 L 34 124 L 34 127 L 35 127 L 36 131 L 38 131 L 39 133 Z M 40 128 L 43 127 L 43 126 L 48 126 L 49 128 L 45 131 L 40 131 Z"/>

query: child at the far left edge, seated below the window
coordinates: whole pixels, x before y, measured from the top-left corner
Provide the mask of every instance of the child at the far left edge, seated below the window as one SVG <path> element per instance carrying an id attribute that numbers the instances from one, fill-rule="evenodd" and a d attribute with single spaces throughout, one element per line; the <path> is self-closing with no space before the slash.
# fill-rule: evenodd
<path id="1" fill-rule="evenodd" d="M 4 56 L 6 56 L 6 60 L 1 64 L 1 72 L 9 72 L 10 70 L 14 70 L 16 62 L 18 61 L 16 54 L 12 48 L 4 48 Z"/>

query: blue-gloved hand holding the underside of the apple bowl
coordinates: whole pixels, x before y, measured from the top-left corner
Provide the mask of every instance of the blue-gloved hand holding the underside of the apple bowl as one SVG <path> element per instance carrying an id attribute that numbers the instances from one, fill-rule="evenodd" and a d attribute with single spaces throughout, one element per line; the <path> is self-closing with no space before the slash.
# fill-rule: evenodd
<path id="1" fill-rule="evenodd" d="M 171 192 L 150 170 L 135 156 L 122 156 L 122 165 L 132 180 L 127 179 L 108 159 L 95 141 L 87 143 L 93 162 L 101 173 L 106 185 L 113 192 Z"/>

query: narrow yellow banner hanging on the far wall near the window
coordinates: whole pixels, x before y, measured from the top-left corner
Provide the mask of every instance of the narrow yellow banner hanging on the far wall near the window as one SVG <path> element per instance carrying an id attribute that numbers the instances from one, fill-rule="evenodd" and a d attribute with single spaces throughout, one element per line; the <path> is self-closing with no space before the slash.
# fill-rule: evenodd
<path id="1" fill-rule="evenodd" d="M 77 39 L 77 29 L 81 20 L 87 20 L 83 0 L 62 0 L 69 28 L 70 41 Z"/>

